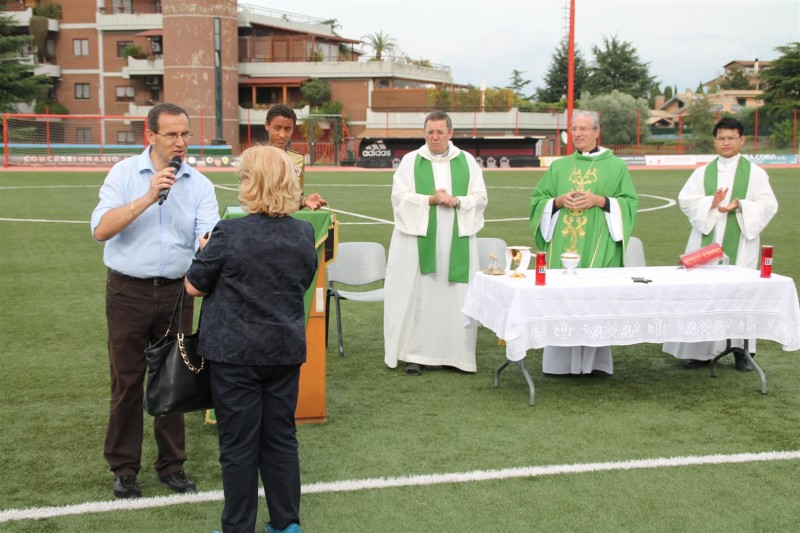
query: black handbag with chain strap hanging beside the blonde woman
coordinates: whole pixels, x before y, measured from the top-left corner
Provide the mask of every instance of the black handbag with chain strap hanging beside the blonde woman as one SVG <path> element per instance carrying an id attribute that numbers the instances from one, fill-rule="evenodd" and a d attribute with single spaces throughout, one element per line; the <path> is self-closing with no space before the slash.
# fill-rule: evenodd
<path id="1" fill-rule="evenodd" d="M 213 407 L 208 364 L 197 353 L 199 325 L 191 335 L 172 333 L 176 313 L 178 323 L 175 329 L 180 329 L 183 323 L 185 292 L 186 289 L 181 287 L 167 332 L 144 351 L 147 358 L 144 410 L 153 416 L 203 411 Z"/>

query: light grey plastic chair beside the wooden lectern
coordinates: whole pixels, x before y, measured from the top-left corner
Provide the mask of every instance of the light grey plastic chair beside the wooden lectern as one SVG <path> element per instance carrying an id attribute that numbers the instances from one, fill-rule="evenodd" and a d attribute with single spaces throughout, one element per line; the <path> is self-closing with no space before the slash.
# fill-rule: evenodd
<path id="1" fill-rule="evenodd" d="M 386 276 L 386 249 L 378 242 L 340 242 L 336 259 L 328 265 L 328 291 L 325 308 L 325 339 L 328 338 L 328 316 L 331 296 L 336 305 L 336 331 L 339 335 L 339 355 L 344 357 L 342 338 L 341 300 L 352 302 L 382 302 L 383 287 L 368 291 L 340 290 L 336 284 L 353 287 L 383 281 Z"/>

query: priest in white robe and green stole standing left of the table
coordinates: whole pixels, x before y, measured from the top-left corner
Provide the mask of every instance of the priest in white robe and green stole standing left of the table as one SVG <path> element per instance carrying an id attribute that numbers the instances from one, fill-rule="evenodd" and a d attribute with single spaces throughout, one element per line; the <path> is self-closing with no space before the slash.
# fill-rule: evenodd
<path id="1" fill-rule="evenodd" d="M 477 330 L 465 328 L 461 307 L 478 270 L 476 235 L 488 203 L 483 171 L 450 141 L 441 111 L 424 122 L 425 146 L 406 154 L 394 174 L 394 232 L 384 282 L 384 360 L 475 372 Z"/>

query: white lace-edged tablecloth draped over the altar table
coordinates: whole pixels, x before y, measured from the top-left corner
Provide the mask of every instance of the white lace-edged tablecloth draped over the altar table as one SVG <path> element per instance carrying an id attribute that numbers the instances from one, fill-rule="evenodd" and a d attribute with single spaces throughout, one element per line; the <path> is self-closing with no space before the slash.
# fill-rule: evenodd
<path id="1" fill-rule="evenodd" d="M 800 349 L 800 305 L 794 281 L 736 266 L 549 270 L 475 275 L 462 313 L 506 341 L 519 361 L 531 348 L 608 346 L 641 342 L 759 338 Z M 632 277 L 651 279 L 634 283 Z"/>

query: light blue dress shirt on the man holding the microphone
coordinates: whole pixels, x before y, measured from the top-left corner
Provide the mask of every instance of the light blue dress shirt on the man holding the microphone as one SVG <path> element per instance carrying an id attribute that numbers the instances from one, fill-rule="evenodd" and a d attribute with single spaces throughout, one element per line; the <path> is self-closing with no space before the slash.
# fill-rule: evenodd
<path id="1" fill-rule="evenodd" d="M 150 147 L 115 164 L 100 188 L 100 203 L 92 212 L 91 230 L 111 209 L 141 198 L 156 173 Z M 162 204 L 149 206 L 125 229 L 105 241 L 106 266 L 137 278 L 180 278 L 192 263 L 197 238 L 219 221 L 214 185 L 183 163 Z"/>

